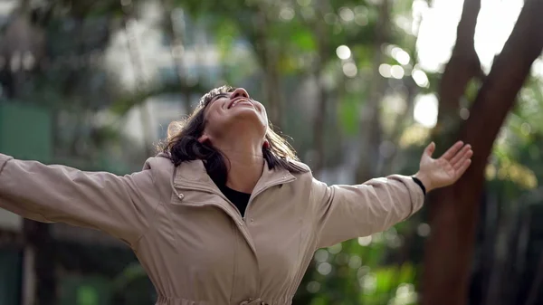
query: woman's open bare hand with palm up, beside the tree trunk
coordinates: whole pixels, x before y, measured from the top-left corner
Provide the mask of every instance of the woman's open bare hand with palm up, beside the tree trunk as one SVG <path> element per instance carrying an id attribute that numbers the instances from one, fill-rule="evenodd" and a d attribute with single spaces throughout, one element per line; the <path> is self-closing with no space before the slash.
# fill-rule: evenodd
<path id="1" fill-rule="evenodd" d="M 472 147 L 456 142 L 442 157 L 432 158 L 435 143 L 424 149 L 420 169 L 414 175 L 423 183 L 426 192 L 455 183 L 472 163 Z"/>

